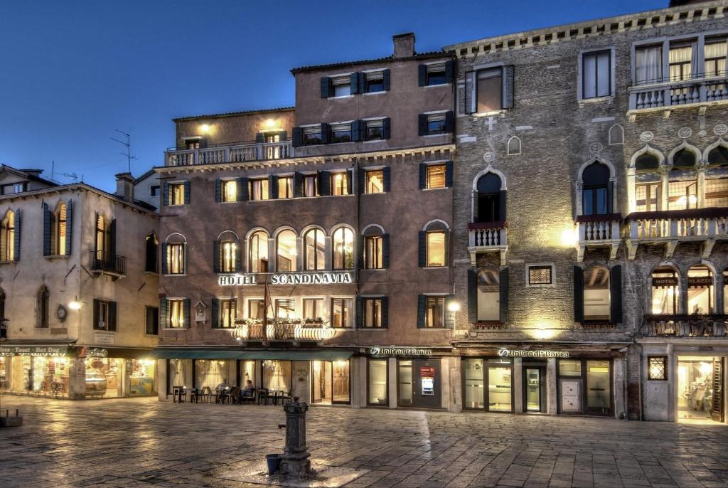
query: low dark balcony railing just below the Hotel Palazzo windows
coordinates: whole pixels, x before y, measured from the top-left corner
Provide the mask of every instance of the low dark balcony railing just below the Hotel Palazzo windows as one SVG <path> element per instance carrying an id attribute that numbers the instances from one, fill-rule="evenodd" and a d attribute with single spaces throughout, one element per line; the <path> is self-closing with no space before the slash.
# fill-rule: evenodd
<path id="1" fill-rule="evenodd" d="M 644 337 L 726 337 L 728 315 L 645 315 Z"/>

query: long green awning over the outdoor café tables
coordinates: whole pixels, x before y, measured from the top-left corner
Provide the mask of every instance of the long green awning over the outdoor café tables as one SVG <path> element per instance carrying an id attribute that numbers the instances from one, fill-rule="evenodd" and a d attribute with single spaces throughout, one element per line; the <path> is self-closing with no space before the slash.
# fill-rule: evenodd
<path id="1" fill-rule="evenodd" d="M 338 361 L 348 359 L 352 351 L 316 350 L 316 351 L 244 351 L 244 350 L 211 350 L 211 349 L 157 349 L 151 357 L 157 359 L 287 359 L 290 361 Z"/>

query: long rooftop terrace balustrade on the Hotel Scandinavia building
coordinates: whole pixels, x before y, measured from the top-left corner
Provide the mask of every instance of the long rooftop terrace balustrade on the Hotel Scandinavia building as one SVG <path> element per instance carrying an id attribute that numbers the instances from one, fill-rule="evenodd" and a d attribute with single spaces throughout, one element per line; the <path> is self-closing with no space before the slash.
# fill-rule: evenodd
<path id="1" fill-rule="evenodd" d="M 236 143 L 205 149 L 167 149 L 165 166 L 215 165 L 222 162 L 284 160 L 293 156 L 290 141 Z"/>

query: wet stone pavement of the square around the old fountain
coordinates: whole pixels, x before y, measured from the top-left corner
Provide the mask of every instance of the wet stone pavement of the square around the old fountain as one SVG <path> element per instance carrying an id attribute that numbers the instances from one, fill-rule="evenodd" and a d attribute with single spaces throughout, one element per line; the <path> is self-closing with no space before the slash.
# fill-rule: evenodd
<path id="1" fill-rule="evenodd" d="M 280 407 L 0 397 L 0 487 L 242 487 L 280 452 Z M 347 487 L 728 487 L 728 426 L 314 407 L 316 463 Z M 260 486 L 260 485 L 256 485 Z"/>

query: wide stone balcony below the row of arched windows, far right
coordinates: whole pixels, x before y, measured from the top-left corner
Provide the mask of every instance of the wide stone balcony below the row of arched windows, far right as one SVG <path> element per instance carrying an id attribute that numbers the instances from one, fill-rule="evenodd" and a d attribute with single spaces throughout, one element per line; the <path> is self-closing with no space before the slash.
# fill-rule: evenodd
<path id="1" fill-rule="evenodd" d="M 635 259 L 641 244 L 664 245 L 670 258 L 679 243 L 701 243 L 703 259 L 708 259 L 716 240 L 728 239 L 728 208 L 692 208 L 635 212 L 627 216 L 628 257 Z"/>

